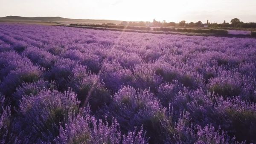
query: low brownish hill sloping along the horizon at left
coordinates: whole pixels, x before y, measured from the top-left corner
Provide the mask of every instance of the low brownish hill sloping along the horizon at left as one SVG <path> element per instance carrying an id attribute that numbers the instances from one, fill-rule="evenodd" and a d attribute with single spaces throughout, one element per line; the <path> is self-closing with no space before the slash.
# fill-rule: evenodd
<path id="1" fill-rule="evenodd" d="M 69 25 L 70 23 L 115 23 L 119 24 L 122 20 L 90 20 L 90 19 L 70 19 L 64 17 L 19 17 L 19 16 L 6 16 L 0 17 L 0 22 L 9 22 L 9 23 L 36 23 L 36 24 L 64 24 Z"/>

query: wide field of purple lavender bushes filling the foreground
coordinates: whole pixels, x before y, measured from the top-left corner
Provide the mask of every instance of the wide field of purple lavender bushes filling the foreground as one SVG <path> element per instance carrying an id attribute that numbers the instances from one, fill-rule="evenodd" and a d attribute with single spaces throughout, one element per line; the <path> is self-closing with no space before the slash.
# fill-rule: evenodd
<path id="1" fill-rule="evenodd" d="M 256 39 L 0 24 L 0 143 L 256 143 Z"/>

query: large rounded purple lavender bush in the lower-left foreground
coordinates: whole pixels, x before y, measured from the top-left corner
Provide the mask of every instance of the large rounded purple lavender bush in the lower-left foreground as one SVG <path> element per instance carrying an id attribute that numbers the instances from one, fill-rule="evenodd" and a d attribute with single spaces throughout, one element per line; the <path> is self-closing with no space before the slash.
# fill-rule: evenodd
<path id="1" fill-rule="evenodd" d="M 26 95 L 19 105 L 20 128 L 24 139 L 31 142 L 53 141 L 59 134 L 59 127 L 79 112 L 79 101 L 72 91 L 64 93 L 43 90 L 38 95 Z"/>

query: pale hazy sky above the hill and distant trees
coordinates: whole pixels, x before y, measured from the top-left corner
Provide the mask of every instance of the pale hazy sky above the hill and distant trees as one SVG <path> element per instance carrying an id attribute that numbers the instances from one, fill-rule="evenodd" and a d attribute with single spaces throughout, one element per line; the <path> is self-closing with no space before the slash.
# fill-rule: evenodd
<path id="1" fill-rule="evenodd" d="M 0 17 L 256 22 L 256 0 L 0 0 Z"/>

